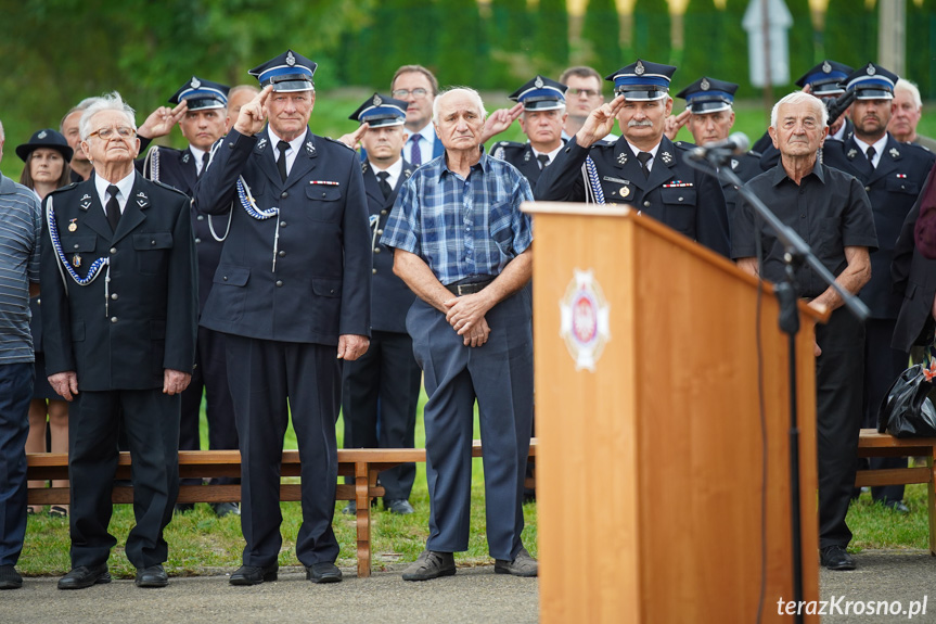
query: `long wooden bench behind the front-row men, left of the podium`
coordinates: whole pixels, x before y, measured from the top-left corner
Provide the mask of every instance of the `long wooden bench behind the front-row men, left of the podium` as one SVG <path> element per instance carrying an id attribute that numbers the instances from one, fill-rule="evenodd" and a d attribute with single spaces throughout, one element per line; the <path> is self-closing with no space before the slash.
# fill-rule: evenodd
<path id="1" fill-rule="evenodd" d="M 537 441 L 529 446 L 530 457 L 536 456 Z M 472 457 L 482 456 L 480 441 L 475 441 Z M 68 479 L 68 456 L 64 453 L 26 454 L 27 479 Z M 426 460 L 424 448 L 339 448 L 338 476 L 352 476 L 355 484 L 338 483 L 335 499 L 354 500 L 357 505 L 357 560 L 358 576 L 371 575 L 371 506 L 369 500 L 384 495 L 377 485 L 377 474 L 401 463 Z M 282 476 L 299 476 L 299 451 L 284 450 Z M 179 476 L 206 479 L 213 476 L 241 476 L 239 450 L 180 450 Z M 130 454 L 121 453 L 117 463 L 117 479 L 130 479 Z M 281 483 L 280 500 L 300 500 L 298 483 Z M 67 505 L 67 487 L 29 488 L 29 505 Z M 133 502 L 132 487 L 114 487 L 114 502 Z M 178 502 L 239 502 L 240 485 L 182 485 Z"/>

